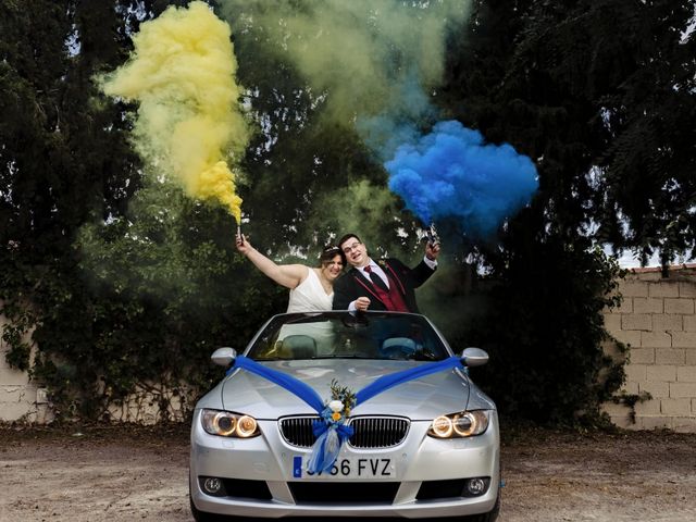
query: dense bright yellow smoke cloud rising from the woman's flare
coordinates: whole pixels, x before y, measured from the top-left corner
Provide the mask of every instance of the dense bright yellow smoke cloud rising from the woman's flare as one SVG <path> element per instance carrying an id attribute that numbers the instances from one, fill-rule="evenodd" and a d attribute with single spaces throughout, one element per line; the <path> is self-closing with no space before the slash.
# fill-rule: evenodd
<path id="1" fill-rule="evenodd" d="M 150 166 L 174 174 L 188 195 L 219 201 L 239 223 L 241 199 L 226 157 L 238 160 L 250 133 L 229 36 L 203 2 L 170 7 L 141 25 L 129 61 L 101 88 L 139 102 L 134 141 Z"/>

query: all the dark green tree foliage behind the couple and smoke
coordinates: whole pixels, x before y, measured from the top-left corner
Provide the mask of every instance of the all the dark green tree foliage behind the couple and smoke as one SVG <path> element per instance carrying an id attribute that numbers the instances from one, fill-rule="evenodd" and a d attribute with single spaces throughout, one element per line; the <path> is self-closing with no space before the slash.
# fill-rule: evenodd
<path id="1" fill-rule="evenodd" d="M 92 82 L 127 59 L 140 23 L 187 3 L 0 1 L 2 335 L 8 360 L 49 385 L 65 417 L 99 418 L 142 383 L 204 390 L 211 349 L 241 348 L 284 309 L 286 294 L 236 254 L 229 216 L 148 172 L 128 140 L 134 108 Z M 245 2 L 211 3 L 231 13 L 258 127 L 239 184 L 254 246 L 311 263 L 353 229 L 375 252 L 415 260 L 418 223 L 355 122 L 323 117 L 331 89 L 269 52 Z M 488 244 L 444 224 L 422 308 L 455 347 L 490 352 L 476 378 L 505 414 L 569 422 L 621 383 L 614 368 L 597 384 L 620 270 L 595 247 L 693 254 L 694 2 L 473 5 L 431 101 L 530 156 L 539 191 Z M 472 258 L 486 275 L 472 275 Z"/>

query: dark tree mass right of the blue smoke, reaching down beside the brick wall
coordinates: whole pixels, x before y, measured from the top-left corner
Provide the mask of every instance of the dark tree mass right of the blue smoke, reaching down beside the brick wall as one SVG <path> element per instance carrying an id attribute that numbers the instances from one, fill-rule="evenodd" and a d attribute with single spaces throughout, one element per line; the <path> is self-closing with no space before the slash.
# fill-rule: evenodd
<path id="1" fill-rule="evenodd" d="M 469 37 L 451 44 L 444 104 L 539 171 L 502 248 L 483 248 L 495 285 L 461 334 L 494 353 L 486 384 L 510 414 L 568 422 L 620 385 L 618 368 L 593 385 L 620 274 L 595 245 L 659 251 L 663 263 L 691 254 L 696 70 L 682 32 L 693 8 L 481 1 Z"/>

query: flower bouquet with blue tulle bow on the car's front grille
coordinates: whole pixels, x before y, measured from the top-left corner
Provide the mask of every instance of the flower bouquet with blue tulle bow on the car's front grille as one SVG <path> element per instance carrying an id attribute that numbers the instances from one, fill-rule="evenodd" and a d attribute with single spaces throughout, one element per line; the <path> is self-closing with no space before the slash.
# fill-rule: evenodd
<path id="1" fill-rule="evenodd" d="M 311 473 L 331 470 L 343 445 L 352 435 L 352 427 L 347 425 L 350 410 L 356 406 L 356 394 L 336 380 L 331 382 L 331 399 L 321 412 L 321 419 L 314 421 L 312 431 L 316 442 L 312 446 L 307 469 Z"/>

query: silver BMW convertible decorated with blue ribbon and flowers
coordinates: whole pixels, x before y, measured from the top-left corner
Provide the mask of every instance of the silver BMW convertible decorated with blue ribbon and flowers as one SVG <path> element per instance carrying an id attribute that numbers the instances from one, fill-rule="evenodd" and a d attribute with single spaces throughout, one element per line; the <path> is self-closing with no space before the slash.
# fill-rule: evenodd
<path id="1" fill-rule="evenodd" d="M 212 359 L 227 373 L 194 413 L 197 521 L 496 520 L 498 415 L 469 376 L 488 356 L 455 355 L 425 316 L 279 314 Z"/>

